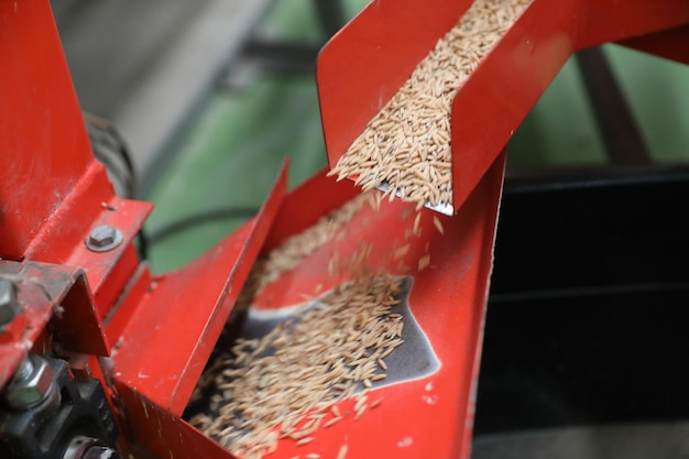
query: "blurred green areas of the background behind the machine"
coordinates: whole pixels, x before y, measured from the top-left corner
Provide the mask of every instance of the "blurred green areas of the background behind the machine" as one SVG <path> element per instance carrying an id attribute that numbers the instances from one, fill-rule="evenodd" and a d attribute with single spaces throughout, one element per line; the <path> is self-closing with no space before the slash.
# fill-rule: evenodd
<path id="1" fill-rule="evenodd" d="M 353 17 L 365 2 L 347 0 Z M 259 33 L 322 44 L 310 0 L 278 1 Z M 603 46 L 653 157 L 689 159 L 689 67 L 615 45 Z M 285 157 L 294 186 L 326 165 L 313 75 L 259 74 L 241 89 L 219 86 L 175 145 L 149 196 L 146 231 L 204 210 L 260 206 Z M 575 62 L 568 62 L 511 141 L 508 167 L 594 165 L 604 147 Z M 305 203 L 308 205 L 308 203 Z M 150 247 L 154 272 L 181 266 L 212 247 L 242 218 L 198 225 Z"/>

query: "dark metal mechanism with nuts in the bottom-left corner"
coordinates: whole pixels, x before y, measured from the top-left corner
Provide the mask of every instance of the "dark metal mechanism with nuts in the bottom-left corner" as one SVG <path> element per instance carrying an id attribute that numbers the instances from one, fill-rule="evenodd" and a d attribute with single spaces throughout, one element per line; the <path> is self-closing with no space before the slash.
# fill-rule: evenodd
<path id="1" fill-rule="evenodd" d="M 119 458 L 117 427 L 100 382 L 75 380 L 64 360 L 31 354 L 29 361 L 20 365 L 15 379 L 23 381 L 43 368 L 43 374 L 50 371 L 52 389 L 42 402 L 23 409 L 0 408 L 0 457 Z M 83 446 L 88 448 L 80 450 L 77 438 L 87 438 Z"/>

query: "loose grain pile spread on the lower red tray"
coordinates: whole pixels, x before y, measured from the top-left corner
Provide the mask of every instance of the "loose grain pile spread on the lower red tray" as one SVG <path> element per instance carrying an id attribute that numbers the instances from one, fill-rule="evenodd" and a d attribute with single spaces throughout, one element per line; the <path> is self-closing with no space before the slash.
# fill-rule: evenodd
<path id="1" fill-rule="evenodd" d="M 208 369 L 218 392 L 192 424 L 234 453 L 261 458 L 278 438 L 311 441 L 341 419 L 335 404 L 363 389 L 358 418 L 368 389 L 385 379 L 384 359 L 403 342 L 402 315 L 393 313 L 400 291 L 401 278 L 389 275 L 342 284 L 265 337 L 238 340 Z"/>

